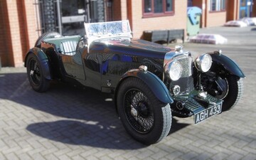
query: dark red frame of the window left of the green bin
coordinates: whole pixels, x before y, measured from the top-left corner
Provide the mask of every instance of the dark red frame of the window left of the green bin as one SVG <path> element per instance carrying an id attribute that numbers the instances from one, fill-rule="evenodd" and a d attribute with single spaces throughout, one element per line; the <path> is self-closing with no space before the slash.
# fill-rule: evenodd
<path id="1" fill-rule="evenodd" d="M 158 16 L 174 16 L 174 9 L 175 9 L 175 1 L 172 1 L 172 11 L 166 11 L 166 0 L 163 0 L 163 12 L 161 13 L 154 13 L 154 1 L 151 0 L 151 12 L 146 13 L 144 11 L 145 7 L 145 0 L 142 0 L 142 18 L 151 18 L 151 17 L 158 17 Z"/>

